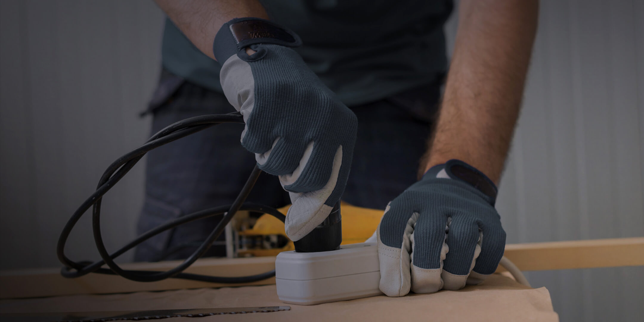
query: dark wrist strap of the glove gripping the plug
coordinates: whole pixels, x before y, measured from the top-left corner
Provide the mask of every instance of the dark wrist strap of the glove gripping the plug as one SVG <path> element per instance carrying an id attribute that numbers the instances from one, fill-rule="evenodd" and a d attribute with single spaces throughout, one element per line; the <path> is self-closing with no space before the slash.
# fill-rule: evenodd
<path id="1" fill-rule="evenodd" d="M 296 33 L 266 19 L 235 18 L 223 24 L 214 37 L 213 54 L 220 64 L 252 44 L 279 44 L 298 47 L 302 44 Z"/>

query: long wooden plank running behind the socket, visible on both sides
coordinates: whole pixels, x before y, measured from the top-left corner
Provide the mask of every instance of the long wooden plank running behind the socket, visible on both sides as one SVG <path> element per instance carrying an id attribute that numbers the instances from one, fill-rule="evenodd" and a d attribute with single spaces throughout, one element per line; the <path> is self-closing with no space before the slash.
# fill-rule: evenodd
<path id="1" fill-rule="evenodd" d="M 644 265 L 644 237 L 570 242 L 520 243 L 506 245 L 506 256 L 521 270 L 587 269 Z M 181 261 L 124 264 L 124 269 L 168 270 Z M 248 276 L 275 268 L 275 256 L 254 258 L 205 258 L 186 272 L 213 276 Z M 498 271 L 503 271 L 500 268 Z M 33 298 L 71 294 L 109 294 L 202 287 L 267 285 L 274 278 L 247 284 L 218 284 L 185 279 L 151 283 L 129 281 L 120 276 L 89 274 L 67 279 L 60 269 L 0 271 L 0 298 Z"/>

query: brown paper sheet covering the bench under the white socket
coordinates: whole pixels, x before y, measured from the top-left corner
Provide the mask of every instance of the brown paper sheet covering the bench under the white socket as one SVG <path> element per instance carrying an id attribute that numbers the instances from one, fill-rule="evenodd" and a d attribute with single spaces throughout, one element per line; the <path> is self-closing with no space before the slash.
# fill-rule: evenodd
<path id="1" fill-rule="evenodd" d="M 73 312 L 169 308 L 263 307 L 279 301 L 275 285 L 170 290 L 130 294 L 5 299 L 0 312 Z M 169 322 L 202 321 L 558 321 L 545 287 L 529 289 L 493 274 L 481 285 L 402 298 L 375 296 L 321 305 L 290 305 L 289 311 L 172 317 Z"/>

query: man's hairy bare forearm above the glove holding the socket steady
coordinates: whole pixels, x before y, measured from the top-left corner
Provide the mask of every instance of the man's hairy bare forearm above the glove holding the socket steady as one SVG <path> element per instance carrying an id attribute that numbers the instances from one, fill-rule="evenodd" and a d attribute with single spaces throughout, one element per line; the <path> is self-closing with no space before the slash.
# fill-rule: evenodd
<path id="1" fill-rule="evenodd" d="M 463 0 L 445 93 L 421 171 L 456 158 L 498 184 L 521 104 L 538 0 Z"/>

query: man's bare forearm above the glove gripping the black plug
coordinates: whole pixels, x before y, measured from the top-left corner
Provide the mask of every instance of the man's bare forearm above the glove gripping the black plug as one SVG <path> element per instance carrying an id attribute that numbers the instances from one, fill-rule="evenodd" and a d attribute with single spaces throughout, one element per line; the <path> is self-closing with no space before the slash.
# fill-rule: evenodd
<path id="1" fill-rule="evenodd" d="M 224 23 L 241 17 L 269 19 L 258 0 L 155 0 L 203 53 L 215 59 L 213 40 Z"/>

